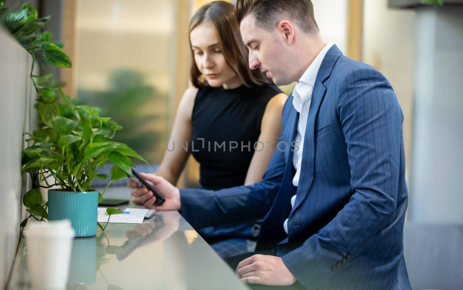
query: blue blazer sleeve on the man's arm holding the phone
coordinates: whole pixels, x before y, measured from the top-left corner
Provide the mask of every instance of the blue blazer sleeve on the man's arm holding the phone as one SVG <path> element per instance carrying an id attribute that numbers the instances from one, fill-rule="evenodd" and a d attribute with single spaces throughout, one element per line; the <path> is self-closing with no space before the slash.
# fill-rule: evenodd
<path id="1" fill-rule="evenodd" d="M 288 119 L 286 101 L 282 113 L 282 128 Z M 278 142 L 285 141 L 284 129 Z M 193 228 L 213 225 L 238 224 L 262 219 L 270 210 L 280 190 L 285 172 L 284 152 L 275 149 L 262 181 L 254 185 L 237 186 L 219 191 L 204 189 L 181 189 L 181 215 Z"/>

